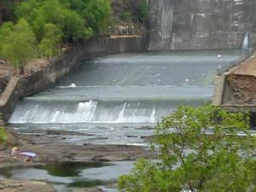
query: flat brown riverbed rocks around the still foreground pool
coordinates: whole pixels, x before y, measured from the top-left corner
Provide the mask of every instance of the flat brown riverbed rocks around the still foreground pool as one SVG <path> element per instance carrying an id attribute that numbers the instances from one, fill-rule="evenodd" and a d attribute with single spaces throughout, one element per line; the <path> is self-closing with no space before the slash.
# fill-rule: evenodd
<path id="1" fill-rule="evenodd" d="M 139 157 L 154 158 L 156 154 L 148 148 L 128 145 L 96 145 L 84 143 L 75 145 L 65 143 L 67 135 L 75 132 L 48 132 L 46 135 L 19 135 L 11 131 L 12 141 L 9 146 L 0 150 L 0 170 L 9 167 L 30 167 L 42 164 L 61 162 L 91 162 L 91 161 L 119 161 L 136 160 Z M 24 161 L 20 155 L 11 155 L 11 148 L 17 146 L 20 151 L 31 151 L 38 156 L 32 162 Z M 0 171 L 1 172 L 1 171 Z M 1 177 L 0 177 L 1 179 Z M 25 190 L 26 189 L 26 190 Z M 0 180 L 0 192 L 52 192 L 55 189 L 42 181 L 17 181 L 10 179 Z M 73 188 L 73 192 L 96 192 L 101 188 Z"/>

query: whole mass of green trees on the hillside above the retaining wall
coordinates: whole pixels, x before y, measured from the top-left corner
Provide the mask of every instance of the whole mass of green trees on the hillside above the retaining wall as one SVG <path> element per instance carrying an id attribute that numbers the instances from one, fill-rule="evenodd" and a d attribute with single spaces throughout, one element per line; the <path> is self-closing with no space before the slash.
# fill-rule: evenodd
<path id="1" fill-rule="evenodd" d="M 61 44 L 107 31 L 111 16 L 109 0 L 3 1 L 0 8 L 13 8 L 0 28 L 0 56 L 21 70 L 35 56 L 57 55 Z"/>

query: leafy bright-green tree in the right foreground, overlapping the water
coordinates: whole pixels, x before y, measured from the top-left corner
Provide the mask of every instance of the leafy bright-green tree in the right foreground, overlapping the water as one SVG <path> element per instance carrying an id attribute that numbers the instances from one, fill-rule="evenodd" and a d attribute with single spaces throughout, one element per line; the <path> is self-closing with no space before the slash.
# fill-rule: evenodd
<path id="1" fill-rule="evenodd" d="M 256 191 L 256 142 L 244 113 L 179 107 L 156 126 L 153 147 L 159 160 L 139 160 L 131 174 L 119 177 L 119 189 Z"/>

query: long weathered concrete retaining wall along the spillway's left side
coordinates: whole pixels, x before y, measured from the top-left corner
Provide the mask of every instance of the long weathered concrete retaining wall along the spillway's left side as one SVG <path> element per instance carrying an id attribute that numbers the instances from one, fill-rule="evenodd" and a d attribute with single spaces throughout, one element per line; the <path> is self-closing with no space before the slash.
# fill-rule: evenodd
<path id="1" fill-rule="evenodd" d="M 15 78 L 3 90 L 0 96 L 0 111 L 3 119 L 8 120 L 10 114 L 22 96 L 38 93 L 54 85 L 78 67 L 79 61 L 90 60 L 96 56 L 111 55 L 123 52 L 139 52 L 144 49 L 143 38 L 100 38 L 90 39 L 70 49 L 60 59 L 30 76 Z"/>

